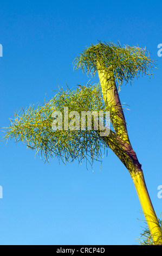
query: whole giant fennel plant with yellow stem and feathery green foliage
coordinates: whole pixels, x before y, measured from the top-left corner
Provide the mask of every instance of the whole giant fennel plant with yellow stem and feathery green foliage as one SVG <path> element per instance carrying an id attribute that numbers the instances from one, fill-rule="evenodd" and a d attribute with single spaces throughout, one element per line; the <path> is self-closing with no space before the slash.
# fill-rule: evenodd
<path id="1" fill-rule="evenodd" d="M 28 148 L 35 150 L 36 154 L 40 153 L 44 161 L 56 156 L 64 163 L 77 159 L 79 162 L 86 160 L 93 164 L 94 160 L 102 161 L 105 151 L 112 149 L 133 179 L 152 241 L 154 245 L 160 245 L 161 227 L 147 191 L 141 164 L 128 137 L 124 106 L 119 97 L 122 83 L 131 83 L 140 74 L 151 76 L 153 64 L 154 60 L 150 59 L 145 48 L 128 45 L 121 47 L 120 44 L 100 41 L 96 45 L 92 44 L 75 58 L 74 69 L 81 69 L 93 78 L 98 77 L 99 82 L 79 86 L 75 90 L 68 87 L 65 91 L 60 89 L 53 99 L 44 101 L 43 105 L 30 105 L 15 113 L 15 118 L 10 119 L 10 126 L 5 127 L 4 137 L 15 138 L 16 142 L 22 141 Z M 63 113 L 67 107 L 73 114 L 68 115 L 68 120 L 62 117 L 61 129 L 58 124 L 57 129 L 53 129 L 53 121 L 56 123 L 57 119 L 53 113 Z M 77 112 L 81 116 L 82 111 L 109 112 L 111 128 L 108 135 L 101 136 L 99 126 L 93 129 L 94 118 L 92 129 L 87 127 L 82 130 L 81 120 L 76 119 L 75 115 Z M 71 122 L 74 129 L 69 129 L 67 121 Z M 63 129 L 65 126 L 66 129 Z"/>

